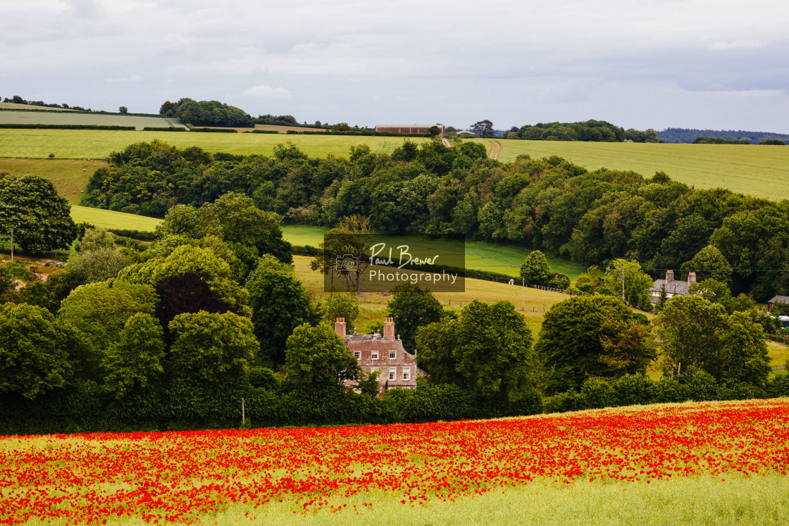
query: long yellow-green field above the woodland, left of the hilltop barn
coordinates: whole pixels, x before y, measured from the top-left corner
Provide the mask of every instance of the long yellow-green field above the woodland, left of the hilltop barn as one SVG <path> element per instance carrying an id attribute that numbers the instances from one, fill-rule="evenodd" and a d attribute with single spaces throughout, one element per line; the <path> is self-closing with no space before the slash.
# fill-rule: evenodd
<path id="1" fill-rule="evenodd" d="M 10 112 L 9 112 L 10 113 Z M 177 147 L 199 146 L 207 151 L 237 155 L 271 155 L 277 144 L 292 141 L 307 155 L 328 154 L 347 157 L 350 147 L 368 144 L 372 151 L 394 151 L 402 137 L 376 136 L 282 136 L 279 133 L 173 133 L 117 132 L 110 130 L 0 129 L 0 157 L 43 158 L 54 153 L 59 158 L 106 158 L 129 144 L 159 139 Z M 426 139 L 412 138 L 415 142 Z"/>

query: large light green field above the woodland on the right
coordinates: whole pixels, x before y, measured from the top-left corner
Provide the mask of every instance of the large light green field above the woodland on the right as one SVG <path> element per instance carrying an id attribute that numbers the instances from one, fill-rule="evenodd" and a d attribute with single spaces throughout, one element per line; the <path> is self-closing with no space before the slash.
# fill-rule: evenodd
<path id="1" fill-rule="evenodd" d="M 472 139 L 489 146 L 489 140 Z M 696 188 L 789 199 L 789 147 L 740 144 L 585 143 L 558 140 L 500 140 L 499 161 L 518 155 L 559 155 L 589 170 L 633 170 L 644 176 L 664 171 Z"/>

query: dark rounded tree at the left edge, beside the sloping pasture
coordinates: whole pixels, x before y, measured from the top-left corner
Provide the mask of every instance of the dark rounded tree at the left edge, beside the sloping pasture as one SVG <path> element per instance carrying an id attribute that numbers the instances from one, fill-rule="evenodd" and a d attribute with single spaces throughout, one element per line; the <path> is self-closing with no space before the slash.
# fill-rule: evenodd
<path id="1" fill-rule="evenodd" d="M 34 175 L 0 175 L 0 235 L 24 252 L 69 248 L 77 237 L 71 206 L 51 181 Z"/>

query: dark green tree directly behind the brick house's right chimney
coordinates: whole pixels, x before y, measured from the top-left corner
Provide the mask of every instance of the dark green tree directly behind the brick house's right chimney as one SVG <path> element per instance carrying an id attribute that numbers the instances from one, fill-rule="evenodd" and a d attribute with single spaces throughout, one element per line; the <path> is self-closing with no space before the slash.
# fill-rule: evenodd
<path id="1" fill-rule="evenodd" d="M 443 318 L 444 310 L 429 289 L 413 283 L 402 283 L 392 289 L 392 300 L 387 307 L 394 318 L 394 326 L 402 339 L 402 346 L 413 354 L 417 346 L 417 330 Z"/>

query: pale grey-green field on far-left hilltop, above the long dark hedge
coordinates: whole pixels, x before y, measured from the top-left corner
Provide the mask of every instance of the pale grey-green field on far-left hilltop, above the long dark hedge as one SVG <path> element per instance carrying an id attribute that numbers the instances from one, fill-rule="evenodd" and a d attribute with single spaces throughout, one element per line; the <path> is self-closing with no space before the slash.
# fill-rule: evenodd
<path id="1" fill-rule="evenodd" d="M 136 129 L 143 129 L 146 126 L 151 128 L 169 128 L 170 126 L 185 128 L 184 124 L 178 119 L 138 117 L 136 115 L 76 114 L 69 111 L 61 113 L 49 111 L 0 111 L 0 124 L 136 126 Z M 54 131 L 73 132 L 85 130 Z M 45 156 L 35 155 L 35 157 Z M 13 155 L 13 157 L 18 157 L 18 155 Z M 65 157 L 104 157 L 104 155 L 65 155 Z"/>

